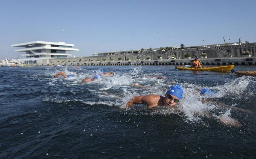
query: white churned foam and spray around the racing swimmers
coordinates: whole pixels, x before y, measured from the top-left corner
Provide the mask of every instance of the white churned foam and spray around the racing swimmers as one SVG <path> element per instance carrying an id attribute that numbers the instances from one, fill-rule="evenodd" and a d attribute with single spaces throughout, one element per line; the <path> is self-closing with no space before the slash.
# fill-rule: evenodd
<path id="1" fill-rule="evenodd" d="M 88 72 L 89 71 L 89 72 Z M 49 82 L 49 85 L 54 85 L 55 82 L 60 82 L 62 80 L 64 85 L 81 85 L 81 81 L 84 78 L 92 77 L 94 74 L 100 73 L 99 70 L 86 72 L 68 72 L 67 67 L 65 67 L 64 72 L 68 74 L 75 74 L 75 77 L 68 78 L 68 79 L 58 79 L 52 80 Z M 57 70 L 56 70 L 57 72 Z M 158 76 L 161 75 L 160 73 L 151 73 L 150 76 Z M 166 93 L 166 90 L 174 83 L 181 84 L 183 87 L 184 93 L 182 100 L 178 104 L 178 109 L 171 109 L 167 107 L 161 107 L 161 109 L 157 109 L 155 111 L 146 112 L 152 115 L 154 114 L 180 114 L 185 117 L 185 121 L 189 123 L 201 123 L 202 125 L 207 125 L 206 123 L 202 122 L 202 117 L 209 117 L 215 120 L 221 121 L 227 125 L 239 125 L 239 123 L 231 118 L 231 110 L 232 107 L 229 109 L 223 109 L 223 106 L 218 105 L 217 102 L 202 102 L 202 99 L 218 99 L 218 98 L 227 98 L 229 96 L 236 96 L 236 98 L 240 98 L 241 95 L 248 93 L 249 95 L 254 95 L 254 85 L 255 85 L 255 78 L 243 76 L 237 78 L 232 81 L 228 81 L 222 85 L 217 85 L 215 87 L 207 87 L 205 85 L 199 84 L 192 84 L 192 83 L 184 83 L 179 80 L 175 80 L 170 82 L 166 82 L 164 79 L 156 79 L 156 78 L 145 78 L 148 74 L 143 73 L 141 71 L 141 66 L 133 67 L 131 70 L 125 70 L 124 72 L 115 72 L 115 75 L 110 76 L 102 76 L 95 81 L 88 82 L 84 85 L 97 85 L 95 89 L 91 89 L 90 92 L 92 94 L 97 95 L 102 100 L 105 101 L 84 101 L 82 102 L 86 104 L 106 104 L 106 105 L 115 105 L 120 109 L 127 109 L 126 103 L 136 95 L 148 95 L 148 94 L 155 94 L 155 95 L 162 95 Z M 147 87 L 135 87 L 133 83 L 137 82 L 143 84 Z M 253 86 L 252 86 L 253 85 Z M 250 86 L 250 87 L 249 87 Z M 201 95 L 200 90 L 203 88 L 208 88 L 212 90 L 215 94 L 214 95 Z M 250 91 L 246 92 L 245 90 L 249 89 Z M 107 92 L 102 92 L 107 91 Z M 113 94 L 113 91 L 119 91 L 118 94 Z M 42 101 L 50 101 L 50 102 L 67 102 L 70 99 L 63 99 L 63 98 L 56 98 L 56 97 L 45 97 L 42 98 Z M 225 103 L 224 103 L 225 104 Z M 129 108 L 128 108 L 129 109 Z M 178 110 L 178 111 L 177 111 Z M 218 111 L 218 112 L 216 112 Z M 215 114 L 211 112 L 216 112 Z M 137 112 L 130 112 L 130 113 L 137 113 Z M 218 114 L 218 115 L 216 115 Z M 229 122 L 225 122 L 225 120 Z M 236 124 L 234 124 L 236 123 Z"/>

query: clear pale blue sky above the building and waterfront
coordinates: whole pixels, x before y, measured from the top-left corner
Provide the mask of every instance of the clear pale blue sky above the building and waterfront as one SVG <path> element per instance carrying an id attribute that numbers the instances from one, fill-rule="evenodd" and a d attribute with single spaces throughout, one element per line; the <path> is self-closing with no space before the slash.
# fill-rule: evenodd
<path id="1" fill-rule="evenodd" d="M 12 44 L 66 42 L 76 56 L 130 49 L 256 42 L 255 0 L 1 0 L 0 59 Z M 204 41 L 203 41 L 204 40 Z"/>

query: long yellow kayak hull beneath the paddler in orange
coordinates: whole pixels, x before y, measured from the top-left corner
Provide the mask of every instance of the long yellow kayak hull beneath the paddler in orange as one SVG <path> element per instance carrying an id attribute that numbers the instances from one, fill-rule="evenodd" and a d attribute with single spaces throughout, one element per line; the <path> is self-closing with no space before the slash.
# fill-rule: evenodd
<path id="1" fill-rule="evenodd" d="M 232 70 L 235 65 L 228 66 L 218 66 L 218 67 L 202 67 L 202 68 L 193 68 L 193 67 L 176 67 L 178 70 L 190 70 L 190 71 L 217 71 L 217 72 L 227 72 Z"/>

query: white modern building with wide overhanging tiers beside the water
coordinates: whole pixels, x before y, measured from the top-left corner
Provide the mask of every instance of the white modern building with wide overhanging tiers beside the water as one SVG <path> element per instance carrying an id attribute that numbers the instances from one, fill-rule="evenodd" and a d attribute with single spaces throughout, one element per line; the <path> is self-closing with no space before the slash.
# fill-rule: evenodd
<path id="1" fill-rule="evenodd" d="M 66 44 L 65 42 L 24 42 L 13 44 L 12 47 L 20 47 L 15 49 L 17 52 L 24 52 L 21 58 L 17 60 L 24 64 L 49 64 L 49 59 L 65 58 L 72 56 L 68 51 L 78 51 L 79 49 L 72 48 L 74 44 Z"/>

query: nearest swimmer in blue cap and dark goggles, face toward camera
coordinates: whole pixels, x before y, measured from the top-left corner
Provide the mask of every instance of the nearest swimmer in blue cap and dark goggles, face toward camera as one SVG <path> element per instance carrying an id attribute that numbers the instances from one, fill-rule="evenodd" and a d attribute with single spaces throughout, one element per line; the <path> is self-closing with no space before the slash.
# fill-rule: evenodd
<path id="1" fill-rule="evenodd" d="M 180 99 L 183 94 L 183 89 L 180 85 L 172 85 L 164 97 L 161 95 L 139 95 L 133 96 L 133 98 L 126 103 L 126 107 L 131 106 L 132 104 L 146 104 L 148 108 L 153 108 L 156 106 L 166 105 L 172 107 L 180 102 Z"/>

